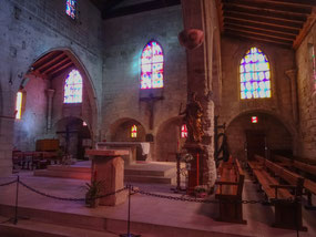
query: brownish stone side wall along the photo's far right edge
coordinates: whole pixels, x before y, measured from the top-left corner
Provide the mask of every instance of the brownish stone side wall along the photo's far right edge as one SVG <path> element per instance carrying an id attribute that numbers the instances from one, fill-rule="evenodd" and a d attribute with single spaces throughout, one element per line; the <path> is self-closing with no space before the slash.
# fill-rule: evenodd
<path id="1" fill-rule="evenodd" d="M 316 51 L 316 24 L 296 51 L 299 107 L 299 156 L 316 158 L 316 87 L 310 48 Z"/>

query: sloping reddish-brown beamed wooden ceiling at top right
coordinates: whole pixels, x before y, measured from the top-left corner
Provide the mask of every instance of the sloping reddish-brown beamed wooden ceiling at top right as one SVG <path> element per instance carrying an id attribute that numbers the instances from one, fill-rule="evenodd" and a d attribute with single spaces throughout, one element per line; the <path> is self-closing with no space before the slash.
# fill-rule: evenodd
<path id="1" fill-rule="evenodd" d="M 224 35 L 297 49 L 316 20 L 316 0 L 216 0 Z"/>

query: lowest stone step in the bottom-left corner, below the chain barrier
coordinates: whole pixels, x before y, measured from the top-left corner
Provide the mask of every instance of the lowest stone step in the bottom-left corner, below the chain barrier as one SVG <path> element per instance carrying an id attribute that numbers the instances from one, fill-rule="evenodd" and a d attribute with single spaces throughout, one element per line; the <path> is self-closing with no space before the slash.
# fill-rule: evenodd
<path id="1" fill-rule="evenodd" d="M 6 221 L 6 217 L 0 218 Z M 70 226 L 48 224 L 34 220 L 18 220 L 17 225 L 4 223 L 0 225 L 0 236 L 6 237 L 118 237 L 106 230 L 82 229 Z"/>

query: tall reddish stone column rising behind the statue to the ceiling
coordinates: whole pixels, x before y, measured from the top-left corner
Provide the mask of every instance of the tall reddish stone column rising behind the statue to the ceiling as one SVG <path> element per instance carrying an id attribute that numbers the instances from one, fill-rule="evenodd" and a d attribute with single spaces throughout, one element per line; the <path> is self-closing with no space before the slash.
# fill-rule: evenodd
<path id="1" fill-rule="evenodd" d="M 203 31 L 203 43 L 194 49 L 186 47 L 187 55 L 187 93 L 196 92 L 204 111 L 204 137 L 198 144 L 203 147 L 202 184 L 213 187 L 216 179 L 214 161 L 214 103 L 212 94 L 212 44 L 213 22 L 212 13 L 216 12 L 214 1 L 210 0 L 182 0 L 184 31 Z M 215 9 L 215 11 L 214 11 Z M 181 40 L 181 39 L 180 39 Z"/>

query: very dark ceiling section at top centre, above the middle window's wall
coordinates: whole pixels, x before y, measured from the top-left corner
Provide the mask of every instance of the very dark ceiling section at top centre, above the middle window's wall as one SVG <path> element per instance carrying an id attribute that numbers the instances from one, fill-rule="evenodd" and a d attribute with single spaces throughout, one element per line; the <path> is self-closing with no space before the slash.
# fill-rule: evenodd
<path id="1" fill-rule="evenodd" d="M 181 0 L 90 0 L 102 13 L 102 19 L 111 19 L 160 8 L 172 7 Z M 134 3 L 131 3 L 134 2 Z"/>

